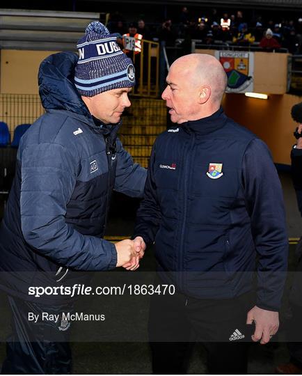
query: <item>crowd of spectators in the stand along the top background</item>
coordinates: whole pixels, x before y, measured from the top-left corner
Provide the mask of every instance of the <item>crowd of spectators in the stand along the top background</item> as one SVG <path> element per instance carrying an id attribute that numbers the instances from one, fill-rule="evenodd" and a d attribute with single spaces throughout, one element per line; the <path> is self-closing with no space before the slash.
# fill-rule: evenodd
<path id="1" fill-rule="evenodd" d="M 143 39 L 164 41 L 168 47 L 175 46 L 175 42 L 197 40 L 201 47 L 230 45 L 243 49 L 257 47 L 268 52 L 283 50 L 302 54 L 302 17 L 265 21 L 262 17 L 248 19 L 241 10 L 219 16 L 216 9 L 209 15 L 196 17 L 184 6 L 177 19 L 167 18 L 162 24 L 145 24 L 143 19 L 130 21 L 130 26 L 134 26 Z M 122 36 L 129 33 L 128 26 L 129 23 L 120 13 L 111 14 L 108 24 L 111 33 Z"/>

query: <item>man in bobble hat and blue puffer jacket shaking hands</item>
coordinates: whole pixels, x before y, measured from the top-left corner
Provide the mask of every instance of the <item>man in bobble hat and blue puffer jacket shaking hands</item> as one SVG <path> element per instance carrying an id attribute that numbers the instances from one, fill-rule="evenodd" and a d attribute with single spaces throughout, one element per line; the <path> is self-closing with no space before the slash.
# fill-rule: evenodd
<path id="1" fill-rule="evenodd" d="M 145 185 L 145 169 L 117 138 L 134 66 L 100 22 L 88 25 L 77 47 L 79 56 L 61 52 L 40 65 L 46 113 L 22 137 L 1 223 L 0 287 L 13 312 L 2 373 L 71 373 L 70 322 L 61 313 L 73 301 L 37 299 L 30 286 L 89 283 L 86 272 L 134 270 L 143 256 L 135 241 L 102 239 L 113 189 L 140 197 Z M 33 312 L 60 320 L 33 324 Z"/>

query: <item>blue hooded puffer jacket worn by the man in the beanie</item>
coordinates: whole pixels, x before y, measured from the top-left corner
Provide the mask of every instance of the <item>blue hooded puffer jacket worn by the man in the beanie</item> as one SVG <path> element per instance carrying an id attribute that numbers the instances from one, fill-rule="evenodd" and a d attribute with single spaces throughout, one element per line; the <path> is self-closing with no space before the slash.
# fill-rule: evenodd
<path id="1" fill-rule="evenodd" d="M 90 116 L 73 84 L 76 63 L 71 52 L 42 62 L 47 113 L 24 134 L 17 153 L 0 229 L 0 274 L 2 287 L 22 298 L 40 272 L 54 285 L 81 283 L 84 274 L 74 271 L 116 267 L 116 247 L 102 239 L 111 192 L 143 194 L 146 170 L 116 139 L 118 125 L 97 125 Z"/>

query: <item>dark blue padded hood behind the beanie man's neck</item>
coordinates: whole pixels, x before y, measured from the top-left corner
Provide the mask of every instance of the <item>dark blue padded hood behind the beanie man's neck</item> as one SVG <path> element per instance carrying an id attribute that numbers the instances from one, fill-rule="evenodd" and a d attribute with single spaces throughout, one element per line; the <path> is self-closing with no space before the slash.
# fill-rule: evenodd
<path id="1" fill-rule="evenodd" d="M 90 117 L 86 104 L 74 86 L 74 68 L 78 56 L 59 52 L 42 61 L 38 73 L 39 93 L 45 110 L 67 110 Z"/>

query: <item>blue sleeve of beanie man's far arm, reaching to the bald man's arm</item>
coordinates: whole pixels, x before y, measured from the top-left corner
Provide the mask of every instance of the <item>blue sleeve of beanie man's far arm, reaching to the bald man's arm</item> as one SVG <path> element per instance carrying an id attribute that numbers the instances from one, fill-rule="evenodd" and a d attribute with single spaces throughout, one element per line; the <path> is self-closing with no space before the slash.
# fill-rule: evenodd
<path id="1" fill-rule="evenodd" d="M 116 141 L 116 182 L 114 190 L 130 197 L 143 197 L 143 188 L 147 171 L 138 163 L 134 163 L 131 155 L 123 147 L 119 139 Z"/>

